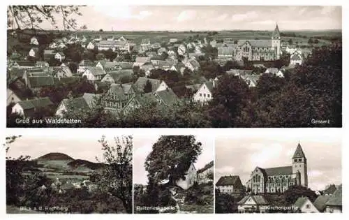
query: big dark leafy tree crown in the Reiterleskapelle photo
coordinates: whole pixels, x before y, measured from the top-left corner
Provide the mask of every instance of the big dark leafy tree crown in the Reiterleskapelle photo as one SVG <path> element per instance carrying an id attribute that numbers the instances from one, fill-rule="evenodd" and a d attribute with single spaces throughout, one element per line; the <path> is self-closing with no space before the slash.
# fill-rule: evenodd
<path id="1" fill-rule="evenodd" d="M 188 166 L 201 154 L 201 145 L 193 135 L 161 136 L 144 163 L 148 178 L 155 183 L 169 179 L 170 184 L 185 178 Z"/>

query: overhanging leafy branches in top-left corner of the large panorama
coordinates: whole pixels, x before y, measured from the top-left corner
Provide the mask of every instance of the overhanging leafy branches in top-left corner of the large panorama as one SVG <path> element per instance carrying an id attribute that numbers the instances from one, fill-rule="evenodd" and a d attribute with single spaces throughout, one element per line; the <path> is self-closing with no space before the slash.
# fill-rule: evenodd
<path id="1" fill-rule="evenodd" d="M 76 29 L 77 22 L 72 15 L 82 15 L 82 6 L 8 6 L 7 24 L 10 29 L 22 30 L 26 28 L 41 29 L 40 24 L 49 22 L 58 29 L 59 24 L 55 15 L 60 15 L 64 29 Z"/>

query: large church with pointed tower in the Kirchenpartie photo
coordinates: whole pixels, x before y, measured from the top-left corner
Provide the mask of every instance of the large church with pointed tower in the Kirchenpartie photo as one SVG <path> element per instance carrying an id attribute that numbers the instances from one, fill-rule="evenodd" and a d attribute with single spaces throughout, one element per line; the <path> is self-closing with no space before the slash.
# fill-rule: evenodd
<path id="1" fill-rule="evenodd" d="M 292 185 L 308 187 L 306 156 L 300 144 L 292 156 L 292 166 L 276 168 L 256 167 L 246 182 L 246 189 L 253 193 L 283 193 Z"/>

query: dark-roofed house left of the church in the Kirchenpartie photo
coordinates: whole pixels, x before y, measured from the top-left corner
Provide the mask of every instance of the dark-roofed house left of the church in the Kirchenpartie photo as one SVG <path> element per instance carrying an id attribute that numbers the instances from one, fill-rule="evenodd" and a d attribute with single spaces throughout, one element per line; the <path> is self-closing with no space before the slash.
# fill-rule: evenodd
<path id="1" fill-rule="evenodd" d="M 223 176 L 216 182 L 216 188 L 221 193 L 243 193 L 244 185 L 242 185 L 241 179 L 237 175 Z"/>

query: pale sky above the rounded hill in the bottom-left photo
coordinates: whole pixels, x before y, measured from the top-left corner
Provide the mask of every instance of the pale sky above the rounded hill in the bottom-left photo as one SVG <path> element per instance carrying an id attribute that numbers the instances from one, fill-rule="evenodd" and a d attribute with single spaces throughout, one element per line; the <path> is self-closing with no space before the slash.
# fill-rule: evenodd
<path id="1" fill-rule="evenodd" d="M 52 152 L 59 152 L 73 157 L 73 159 L 84 159 L 91 162 L 103 162 L 103 151 L 98 140 L 105 135 L 110 145 L 114 144 L 114 137 L 121 136 L 121 133 L 103 130 L 75 129 L 47 130 L 25 129 L 22 133 L 8 133 L 9 135 L 22 135 L 10 147 L 7 156 L 17 158 L 21 155 L 31 156 L 37 159 Z M 80 131 L 79 131 L 80 130 Z M 82 131 L 82 132 L 81 132 Z"/>

